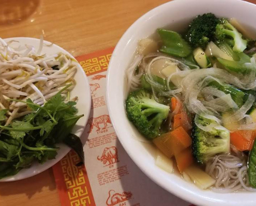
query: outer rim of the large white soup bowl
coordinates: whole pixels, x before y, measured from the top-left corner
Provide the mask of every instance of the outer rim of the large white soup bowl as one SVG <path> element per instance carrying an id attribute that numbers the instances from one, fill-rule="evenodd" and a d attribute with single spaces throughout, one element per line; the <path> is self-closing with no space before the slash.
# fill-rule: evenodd
<path id="1" fill-rule="evenodd" d="M 195 0 L 196 1 L 196 0 Z M 203 0 L 205 2 L 213 2 L 213 0 Z M 217 0 L 216 2 L 220 2 L 222 0 Z M 250 2 L 244 2 L 242 0 L 223 0 L 225 2 L 228 2 L 228 3 L 234 3 L 234 2 L 242 2 L 242 4 L 247 4 L 247 5 L 251 5 L 253 6 L 254 8 L 256 8 L 256 5 L 250 3 Z M 115 132 L 116 132 L 116 135 L 118 137 L 118 140 L 121 142 L 122 146 L 124 147 L 124 149 L 126 150 L 126 152 L 128 153 L 128 155 L 130 156 L 130 158 L 133 160 L 133 162 L 143 171 L 143 173 L 148 176 L 151 180 L 153 180 L 156 184 L 160 185 L 162 188 L 164 188 L 165 190 L 169 191 L 170 193 L 176 195 L 177 197 L 179 198 L 182 198 L 188 202 L 191 202 L 191 203 L 194 203 L 194 204 L 197 204 L 197 205 L 220 205 L 220 206 L 224 206 L 224 205 L 242 205 L 240 204 L 241 202 L 237 203 L 236 202 L 227 202 L 227 201 L 223 201 L 224 198 L 222 199 L 212 199 L 212 198 L 207 198 L 207 197 L 204 197 L 203 195 L 200 195 L 200 194 L 195 194 L 193 193 L 192 191 L 188 191 L 186 190 L 185 188 L 179 188 L 179 190 L 177 190 L 175 187 L 167 187 L 166 185 L 164 185 L 161 181 L 159 181 L 158 178 L 156 178 L 156 175 L 154 175 L 153 173 L 150 173 L 148 170 L 146 170 L 145 167 L 143 167 L 143 165 L 141 164 L 141 161 L 134 155 L 134 153 L 131 152 L 131 150 L 127 147 L 127 145 L 124 143 L 124 141 L 122 140 L 122 138 L 119 138 L 119 130 L 118 128 L 116 127 L 115 125 L 115 119 L 114 119 L 114 108 L 112 108 L 110 102 L 111 102 L 111 97 L 110 97 L 110 73 L 111 73 L 111 67 L 112 67 L 112 64 L 114 62 L 114 59 L 116 58 L 115 57 L 115 54 L 119 52 L 119 50 L 121 50 L 120 45 L 124 42 L 128 43 L 125 39 L 128 39 L 127 35 L 130 31 L 134 30 L 135 28 L 135 25 L 139 24 L 140 22 L 143 22 L 144 20 L 150 18 L 150 16 L 152 16 L 154 14 L 154 12 L 156 12 L 157 10 L 165 7 L 166 5 L 169 5 L 169 4 L 172 4 L 173 2 L 177 2 L 177 0 L 175 1 L 171 1 L 171 2 L 168 2 L 168 3 L 164 3 L 158 7 L 155 7 L 153 8 L 152 10 L 148 11 L 147 13 L 143 14 L 138 20 L 136 20 L 127 30 L 126 32 L 124 33 L 124 35 L 121 37 L 121 39 L 118 41 L 117 45 L 115 46 L 115 49 L 113 51 L 113 54 L 112 54 L 112 57 L 111 57 L 111 60 L 109 62 L 109 67 L 108 67 L 108 72 L 107 72 L 107 81 L 106 81 L 106 97 L 107 97 L 107 106 L 108 106 L 108 111 L 109 111 L 109 114 L 110 114 L 110 118 L 111 118 L 111 122 L 112 122 L 112 125 L 115 129 Z M 178 2 L 183 2 L 183 3 L 190 3 L 192 2 L 191 0 L 179 0 Z M 256 28 L 256 27 L 255 27 Z M 248 192 L 250 193 L 250 192 Z M 227 195 L 228 193 L 226 194 L 223 194 L 223 195 Z M 235 194 L 235 193 L 229 193 L 229 194 Z M 246 200 L 245 200 L 246 201 Z M 247 205 L 255 205 L 256 204 L 256 199 L 251 201 L 249 200 Z"/>

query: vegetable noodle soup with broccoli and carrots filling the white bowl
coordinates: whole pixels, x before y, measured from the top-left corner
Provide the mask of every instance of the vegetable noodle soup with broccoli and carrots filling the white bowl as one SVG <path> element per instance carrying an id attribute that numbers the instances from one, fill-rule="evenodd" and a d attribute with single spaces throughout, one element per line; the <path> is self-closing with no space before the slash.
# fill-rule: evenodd
<path id="1" fill-rule="evenodd" d="M 255 41 L 235 19 L 198 15 L 158 29 L 127 69 L 127 116 L 159 149 L 156 164 L 216 192 L 256 191 Z"/>

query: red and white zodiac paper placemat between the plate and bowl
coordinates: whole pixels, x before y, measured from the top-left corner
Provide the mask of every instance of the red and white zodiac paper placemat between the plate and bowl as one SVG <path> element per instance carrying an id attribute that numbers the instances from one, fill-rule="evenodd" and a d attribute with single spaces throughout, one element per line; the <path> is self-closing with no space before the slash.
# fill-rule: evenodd
<path id="1" fill-rule="evenodd" d="M 91 86 L 92 108 L 81 137 L 85 166 L 70 151 L 53 166 L 59 198 L 64 206 L 161 205 L 189 203 L 163 190 L 132 162 L 118 142 L 106 105 L 106 75 L 113 48 L 77 57 Z"/>

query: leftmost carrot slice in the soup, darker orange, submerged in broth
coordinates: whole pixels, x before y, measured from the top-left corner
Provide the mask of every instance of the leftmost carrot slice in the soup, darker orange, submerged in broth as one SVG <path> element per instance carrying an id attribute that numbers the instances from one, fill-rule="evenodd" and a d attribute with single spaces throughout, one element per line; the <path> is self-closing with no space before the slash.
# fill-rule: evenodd
<path id="1" fill-rule="evenodd" d="M 157 148 L 168 158 L 173 156 L 173 141 L 170 132 L 162 134 L 153 140 Z"/>

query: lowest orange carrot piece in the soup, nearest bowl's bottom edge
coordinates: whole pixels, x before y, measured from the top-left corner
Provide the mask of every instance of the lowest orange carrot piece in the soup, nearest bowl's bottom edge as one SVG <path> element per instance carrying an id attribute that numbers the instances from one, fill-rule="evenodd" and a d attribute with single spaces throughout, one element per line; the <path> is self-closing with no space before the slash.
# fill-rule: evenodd
<path id="1" fill-rule="evenodd" d="M 180 173 L 182 173 L 184 169 L 193 163 L 191 147 L 188 147 L 187 149 L 176 154 L 175 159 L 177 162 L 178 170 Z"/>

